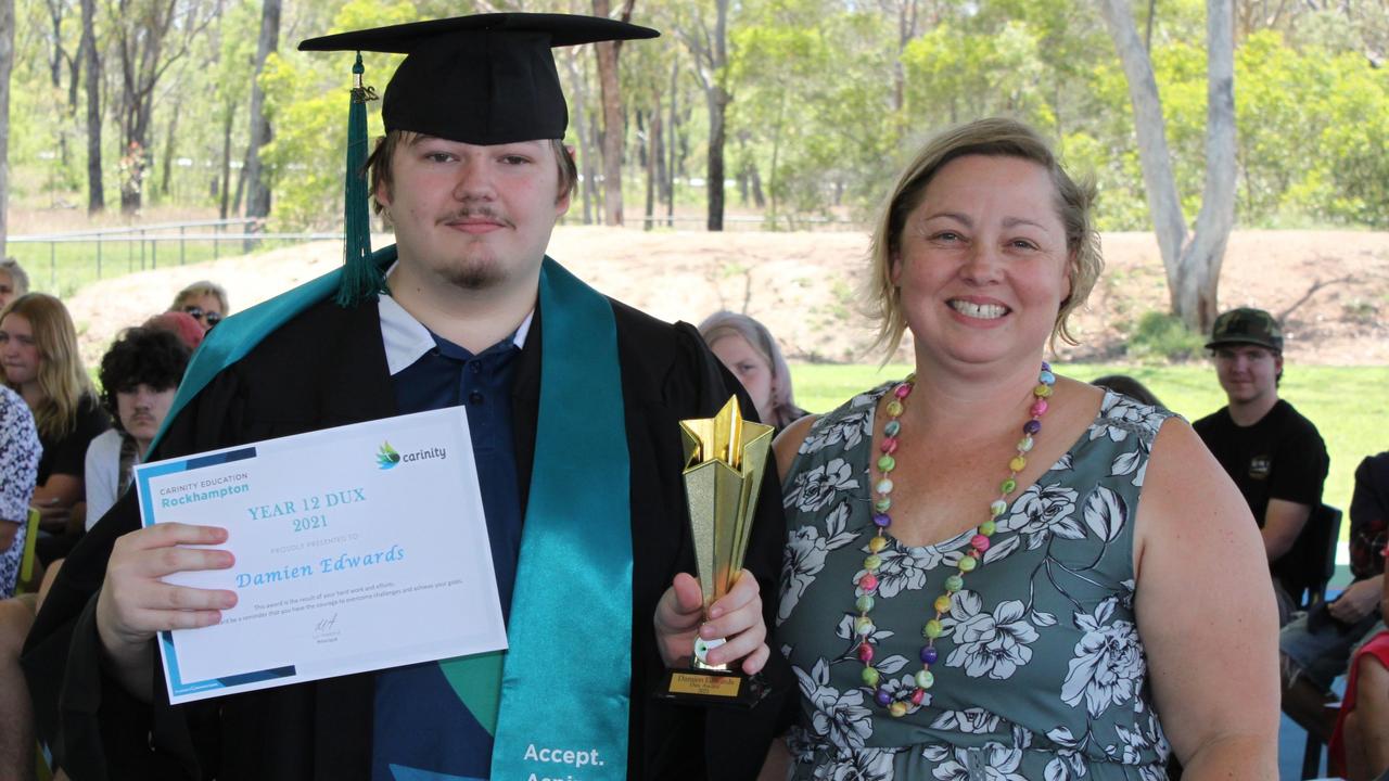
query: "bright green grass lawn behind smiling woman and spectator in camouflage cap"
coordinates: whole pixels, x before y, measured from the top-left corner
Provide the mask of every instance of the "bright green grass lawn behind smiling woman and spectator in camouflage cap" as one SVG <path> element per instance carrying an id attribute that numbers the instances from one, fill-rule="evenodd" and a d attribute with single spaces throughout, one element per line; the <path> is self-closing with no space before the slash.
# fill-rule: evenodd
<path id="1" fill-rule="evenodd" d="M 796 403 L 814 413 L 829 411 L 856 392 L 904 377 L 908 370 L 903 364 L 889 364 L 882 370 L 876 365 L 796 364 L 792 367 Z M 1215 370 L 1210 364 L 1070 364 L 1058 365 L 1057 371 L 1085 381 L 1106 374 L 1128 374 L 1188 420 L 1204 417 L 1225 406 L 1225 393 L 1215 382 Z M 1389 450 L 1386 388 L 1389 367 L 1383 365 L 1283 368 L 1279 396 L 1317 425 L 1331 453 L 1331 474 L 1326 475 L 1322 493 L 1328 504 L 1347 510 L 1360 460 Z M 1346 518 L 1340 527 L 1342 538 L 1349 525 L 1350 518 Z"/>

